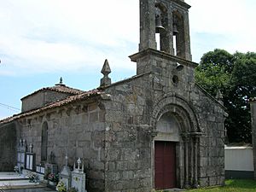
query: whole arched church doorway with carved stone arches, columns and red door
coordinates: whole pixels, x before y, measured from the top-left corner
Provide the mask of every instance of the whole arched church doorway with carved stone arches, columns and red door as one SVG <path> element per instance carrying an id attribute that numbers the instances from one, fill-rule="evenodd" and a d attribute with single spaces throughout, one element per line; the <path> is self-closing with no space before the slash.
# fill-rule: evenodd
<path id="1" fill-rule="evenodd" d="M 157 133 L 153 139 L 154 189 L 198 186 L 201 131 L 194 110 L 182 97 L 166 96 L 155 104 L 151 125 Z M 164 167 L 163 171 L 157 166 Z"/>

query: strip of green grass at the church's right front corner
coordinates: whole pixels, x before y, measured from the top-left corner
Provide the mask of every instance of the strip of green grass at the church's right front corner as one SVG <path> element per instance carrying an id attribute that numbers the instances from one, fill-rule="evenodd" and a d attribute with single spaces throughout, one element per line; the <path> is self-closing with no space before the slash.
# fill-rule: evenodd
<path id="1" fill-rule="evenodd" d="M 225 181 L 224 187 L 191 189 L 189 192 L 256 192 L 256 181 L 244 179 L 230 179 Z"/>

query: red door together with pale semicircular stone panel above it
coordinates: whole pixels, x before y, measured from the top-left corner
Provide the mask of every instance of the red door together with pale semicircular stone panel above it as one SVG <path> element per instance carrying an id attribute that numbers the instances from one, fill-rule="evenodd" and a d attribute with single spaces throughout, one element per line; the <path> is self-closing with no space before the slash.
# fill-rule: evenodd
<path id="1" fill-rule="evenodd" d="M 156 124 L 158 136 L 154 138 L 155 189 L 177 187 L 177 147 L 179 125 L 172 113 L 163 114 Z"/>

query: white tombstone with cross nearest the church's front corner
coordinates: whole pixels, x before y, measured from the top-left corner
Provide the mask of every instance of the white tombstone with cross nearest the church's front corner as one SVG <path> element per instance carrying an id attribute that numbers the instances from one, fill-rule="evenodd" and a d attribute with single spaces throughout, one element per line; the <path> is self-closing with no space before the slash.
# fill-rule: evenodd
<path id="1" fill-rule="evenodd" d="M 77 161 L 78 167 L 76 167 L 76 163 L 73 164 L 73 172 L 71 172 L 71 186 L 75 189 L 78 189 L 78 192 L 87 192 L 85 189 L 85 173 L 84 173 L 84 164 L 80 168 L 81 159 Z"/>

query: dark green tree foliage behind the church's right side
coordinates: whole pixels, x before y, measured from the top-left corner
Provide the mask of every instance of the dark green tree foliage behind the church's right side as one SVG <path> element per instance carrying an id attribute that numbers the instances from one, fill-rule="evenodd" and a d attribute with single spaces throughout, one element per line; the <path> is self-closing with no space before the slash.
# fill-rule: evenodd
<path id="1" fill-rule="evenodd" d="M 215 96 L 223 93 L 229 117 L 225 121 L 230 143 L 251 143 L 250 110 L 247 99 L 256 96 L 256 53 L 214 49 L 201 57 L 195 80 Z"/>

